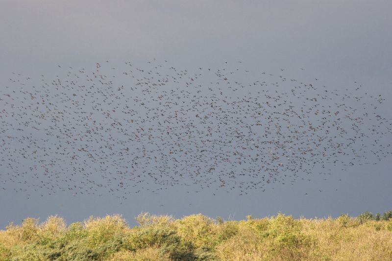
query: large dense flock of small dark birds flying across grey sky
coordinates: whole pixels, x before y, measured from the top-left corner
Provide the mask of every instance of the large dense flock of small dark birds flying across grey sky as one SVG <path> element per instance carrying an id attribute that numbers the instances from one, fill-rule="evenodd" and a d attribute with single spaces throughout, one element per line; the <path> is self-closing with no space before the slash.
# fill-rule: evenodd
<path id="1" fill-rule="evenodd" d="M 359 83 L 330 90 L 285 69 L 169 64 L 59 65 L 52 79 L 13 73 L 0 89 L 0 188 L 122 199 L 178 186 L 243 195 L 391 154 L 385 99 Z"/>

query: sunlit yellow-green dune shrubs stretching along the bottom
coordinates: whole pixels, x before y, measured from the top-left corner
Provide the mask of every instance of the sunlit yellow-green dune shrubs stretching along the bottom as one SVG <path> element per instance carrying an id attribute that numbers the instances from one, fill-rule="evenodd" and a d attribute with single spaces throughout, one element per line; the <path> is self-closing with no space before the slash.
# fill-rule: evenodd
<path id="1" fill-rule="evenodd" d="M 66 225 L 28 217 L 0 231 L 1 261 L 392 260 L 392 212 L 358 217 L 223 220 L 140 214 L 130 228 L 121 215 Z"/>

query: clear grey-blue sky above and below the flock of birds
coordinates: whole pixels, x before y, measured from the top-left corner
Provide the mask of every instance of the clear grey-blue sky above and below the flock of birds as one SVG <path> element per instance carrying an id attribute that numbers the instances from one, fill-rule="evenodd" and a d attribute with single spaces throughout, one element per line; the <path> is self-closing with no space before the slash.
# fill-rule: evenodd
<path id="1" fill-rule="evenodd" d="M 62 73 L 58 65 L 91 69 L 109 60 L 116 67 L 132 61 L 143 68 L 156 59 L 195 71 L 241 61 L 251 72 L 278 74 L 284 69 L 290 77 L 318 78 L 328 90 L 343 90 L 356 81 L 364 92 L 382 95 L 382 113 L 388 119 L 392 116 L 388 0 L 0 0 L 0 6 L 2 92 L 10 86 L 12 72 L 51 79 Z M 236 77 L 245 81 L 247 76 Z M 141 212 L 178 218 L 202 213 L 224 219 L 278 212 L 307 218 L 383 213 L 392 210 L 390 159 L 336 169 L 327 180 L 315 175 L 311 182 L 276 184 L 241 196 L 238 190 L 212 196 L 207 190 L 174 186 L 159 194 L 142 190 L 127 200 L 109 193 L 97 197 L 69 192 L 32 193 L 27 199 L 26 193 L 7 183 L 0 190 L 0 227 L 27 216 L 44 221 L 54 214 L 68 223 L 90 215 L 122 214 L 134 225 Z M 4 172 L 0 178 L 5 179 Z"/>

